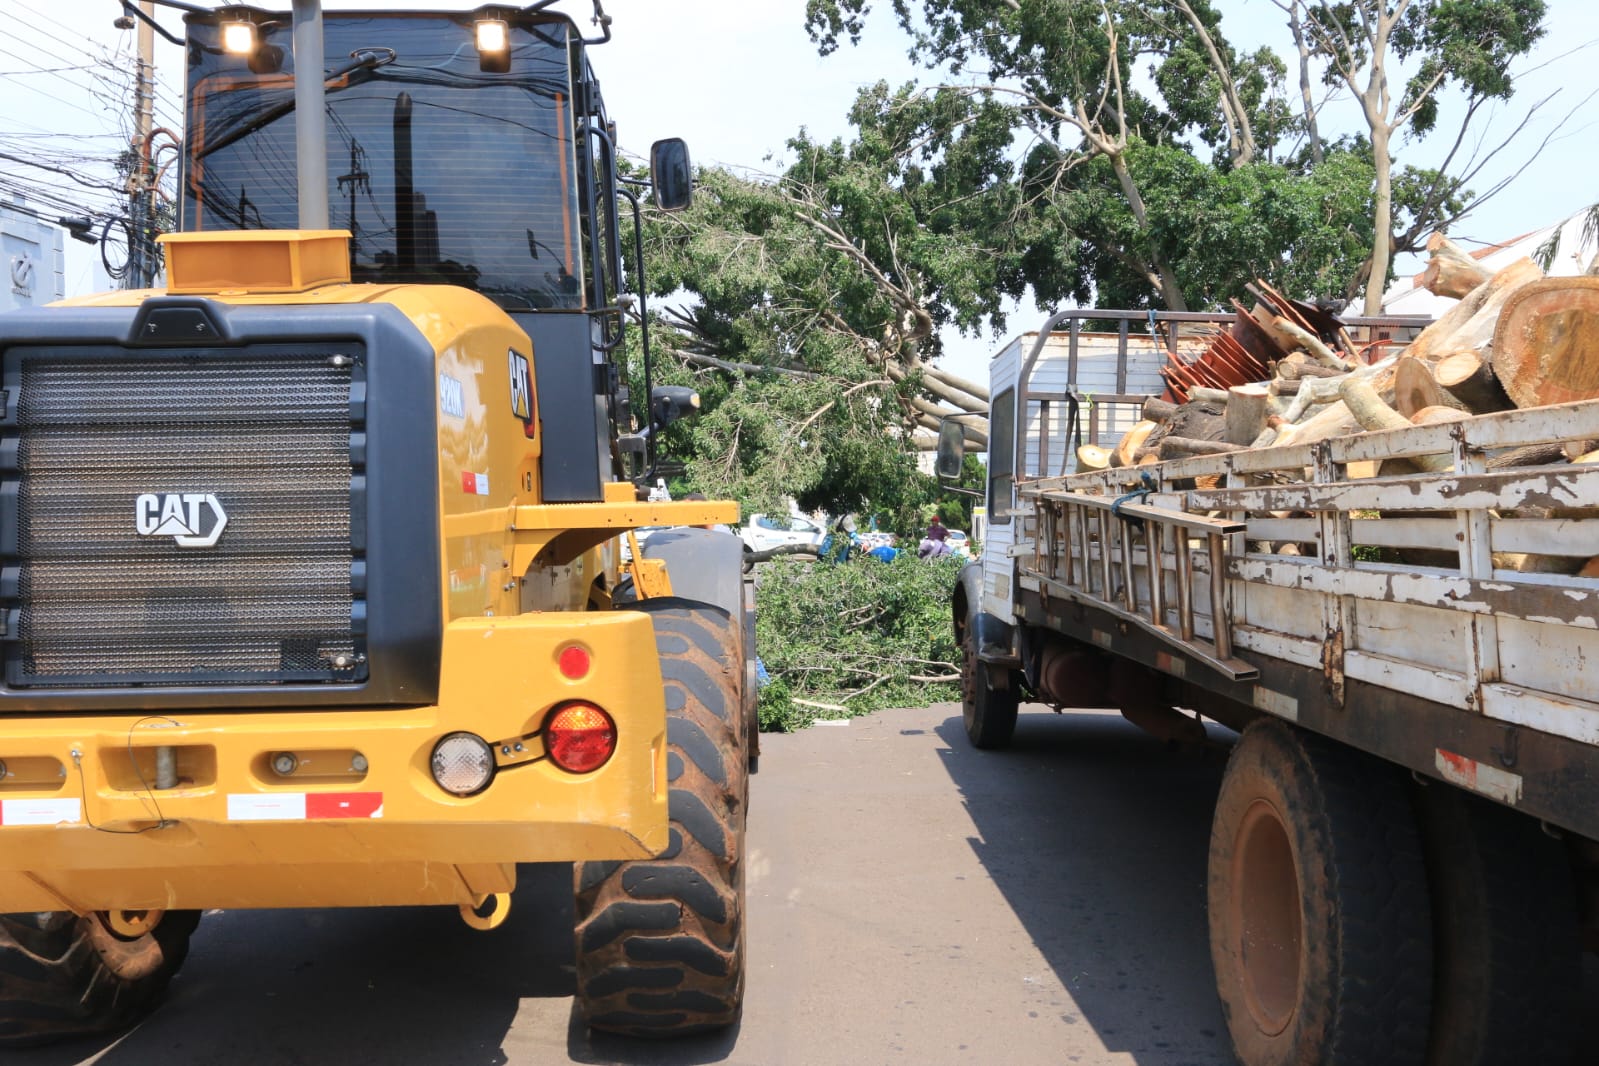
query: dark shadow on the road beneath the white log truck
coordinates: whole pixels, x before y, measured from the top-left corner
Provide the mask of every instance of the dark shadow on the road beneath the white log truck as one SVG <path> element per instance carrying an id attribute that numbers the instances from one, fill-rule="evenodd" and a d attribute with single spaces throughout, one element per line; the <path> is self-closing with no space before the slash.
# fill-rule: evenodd
<path id="1" fill-rule="evenodd" d="M 1007 751 L 937 732 L 974 852 L 1107 1048 L 1140 1066 L 1233 1055 L 1210 988 L 1206 852 L 1231 734 L 1172 750 L 1115 711 L 1023 713 Z M 1004 772 L 996 774 L 995 764 Z"/>

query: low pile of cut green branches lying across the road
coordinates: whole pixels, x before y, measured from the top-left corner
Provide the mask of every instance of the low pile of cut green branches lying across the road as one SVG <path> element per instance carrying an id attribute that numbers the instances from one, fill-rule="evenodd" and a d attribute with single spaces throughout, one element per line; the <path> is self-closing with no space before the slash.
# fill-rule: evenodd
<path id="1" fill-rule="evenodd" d="M 892 563 L 763 564 L 755 647 L 771 682 L 761 689 L 761 729 L 792 732 L 817 718 L 959 698 L 950 603 L 961 566 L 915 551 Z"/>

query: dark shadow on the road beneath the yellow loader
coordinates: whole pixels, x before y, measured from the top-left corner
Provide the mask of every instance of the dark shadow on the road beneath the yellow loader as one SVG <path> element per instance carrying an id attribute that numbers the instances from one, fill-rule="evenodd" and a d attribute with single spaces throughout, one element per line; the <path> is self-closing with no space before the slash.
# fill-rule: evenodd
<path id="1" fill-rule="evenodd" d="M 520 1000 L 572 994 L 571 866 L 523 866 L 518 881 L 505 924 L 486 933 L 449 908 L 209 914 L 168 1002 L 138 1029 L 14 1052 L 6 1066 L 502 1066 Z"/>

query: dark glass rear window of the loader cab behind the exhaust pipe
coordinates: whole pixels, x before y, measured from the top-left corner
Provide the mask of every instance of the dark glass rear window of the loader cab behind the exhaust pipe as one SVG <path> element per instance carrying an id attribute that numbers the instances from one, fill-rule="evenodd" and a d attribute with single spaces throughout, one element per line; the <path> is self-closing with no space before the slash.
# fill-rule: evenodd
<path id="1" fill-rule="evenodd" d="M 329 224 L 355 281 L 477 289 L 507 310 L 584 305 L 569 24 L 510 29 L 484 70 L 472 16 L 333 14 L 326 85 Z M 390 59 L 392 53 L 392 59 Z M 189 26 L 184 230 L 296 229 L 294 59 L 288 19 L 254 56 Z"/>

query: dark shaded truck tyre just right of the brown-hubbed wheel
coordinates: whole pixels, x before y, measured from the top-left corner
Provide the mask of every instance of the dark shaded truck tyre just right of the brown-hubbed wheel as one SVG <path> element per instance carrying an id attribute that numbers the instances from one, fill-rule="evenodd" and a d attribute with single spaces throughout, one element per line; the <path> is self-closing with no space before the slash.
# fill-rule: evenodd
<path id="1" fill-rule="evenodd" d="M 1524 815 L 1417 790 L 1433 887 L 1428 1066 L 1573 1061 L 1581 943 L 1570 861 Z"/>

